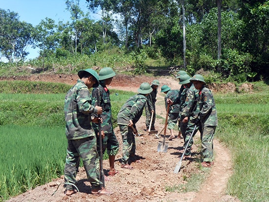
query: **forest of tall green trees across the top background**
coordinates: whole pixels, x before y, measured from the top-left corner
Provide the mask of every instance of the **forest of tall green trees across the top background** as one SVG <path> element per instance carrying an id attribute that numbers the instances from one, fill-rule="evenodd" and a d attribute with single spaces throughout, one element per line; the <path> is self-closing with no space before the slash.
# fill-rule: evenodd
<path id="1" fill-rule="evenodd" d="M 268 79 L 269 0 L 85 0 L 89 13 L 81 1 L 65 0 L 69 21 L 45 18 L 36 26 L 0 8 L 0 57 L 23 65 L 31 46 L 40 49 L 34 60 L 44 67 L 51 57 L 117 50 L 139 61 L 138 73 L 151 58 L 190 74 L 202 68 L 219 79 Z M 91 20 L 90 12 L 101 20 Z"/>

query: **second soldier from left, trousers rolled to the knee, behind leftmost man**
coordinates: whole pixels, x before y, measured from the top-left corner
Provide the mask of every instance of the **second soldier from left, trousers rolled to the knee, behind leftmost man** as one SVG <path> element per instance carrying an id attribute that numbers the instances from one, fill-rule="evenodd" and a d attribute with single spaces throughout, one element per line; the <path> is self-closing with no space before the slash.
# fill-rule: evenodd
<path id="1" fill-rule="evenodd" d="M 110 67 L 102 68 L 99 71 L 99 86 L 92 90 L 92 105 L 93 106 L 101 106 L 103 109 L 103 113 L 101 114 L 101 118 L 103 123 L 101 123 L 101 130 L 104 134 L 102 139 L 102 151 L 103 153 L 107 149 L 107 154 L 109 155 L 110 162 L 110 171 L 108 173 L 109 176 L 114 176 L 118 173 L 114 168 L 115 156 L 119 150 L 119 143 L 116 135 L 113 131 L 112 126 L 112 112 L 111 112 L 111 101 L 110 101 L 110 91 L 107 86 L 111 84 L 113 77 L 115 76 L 115 72 Z M 99 94 L 98 94 L 99 93 Z M 100 96 L 99 96 L 100 95 Z M 99 97 L 99 101 L 97 98 Z M 92 127 L 95 131 L 97 142 L 99 142 L 99 126 L 96 123 L 92 123 Z M 100 145 L 97 144 L 98 153 L 100 153 Z"/>

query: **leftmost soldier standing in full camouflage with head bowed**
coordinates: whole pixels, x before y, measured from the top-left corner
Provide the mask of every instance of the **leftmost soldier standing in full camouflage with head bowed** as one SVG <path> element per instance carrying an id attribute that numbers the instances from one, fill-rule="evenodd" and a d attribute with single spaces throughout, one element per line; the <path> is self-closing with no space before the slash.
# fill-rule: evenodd
<path id="1" fill-rule="evenodd" d="M 65 165 L 66 195 L 75 193 L 75 184 L 80 158 L 91 184 L 92 194 L 112 194 L 100 181 L 99 159 L 96 137 L 91 127 L 91 114 L 101 114 L 101 107 L 91 105 L 89 89 L 98 86 L 98 74 L 93 69 L 80 70 L 79 80 L 65 97 L 65 120 L 67 135 L 67 157 Z"/>

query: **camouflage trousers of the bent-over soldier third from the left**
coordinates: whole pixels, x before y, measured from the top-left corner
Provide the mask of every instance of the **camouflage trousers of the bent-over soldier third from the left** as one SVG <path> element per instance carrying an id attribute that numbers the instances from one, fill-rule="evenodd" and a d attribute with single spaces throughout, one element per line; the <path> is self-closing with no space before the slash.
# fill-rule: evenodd
<path id="1" fill-rule="evenodd" d="M 135 125 L 134 125 L 135 128 Z M 130 157 L 135 154 L 135 138 L 131 127 L 119 125 L 120 134 L 122 137 L 122 158 L 121 164 L 127 164 Z"/>

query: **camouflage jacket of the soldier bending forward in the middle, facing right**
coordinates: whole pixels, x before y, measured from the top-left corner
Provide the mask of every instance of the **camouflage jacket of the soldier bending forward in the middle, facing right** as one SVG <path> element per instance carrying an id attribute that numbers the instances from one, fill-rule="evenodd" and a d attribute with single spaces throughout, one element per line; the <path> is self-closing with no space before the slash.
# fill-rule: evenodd
<path id="1" fill-rule="evenodd" d="M 142 94 L 130 97 L 118 112 L 117 123 L 128 125 L 129 120 L 132 120 L 135 124 L 141 117 L 146 102 L 147 97 Z"/>

